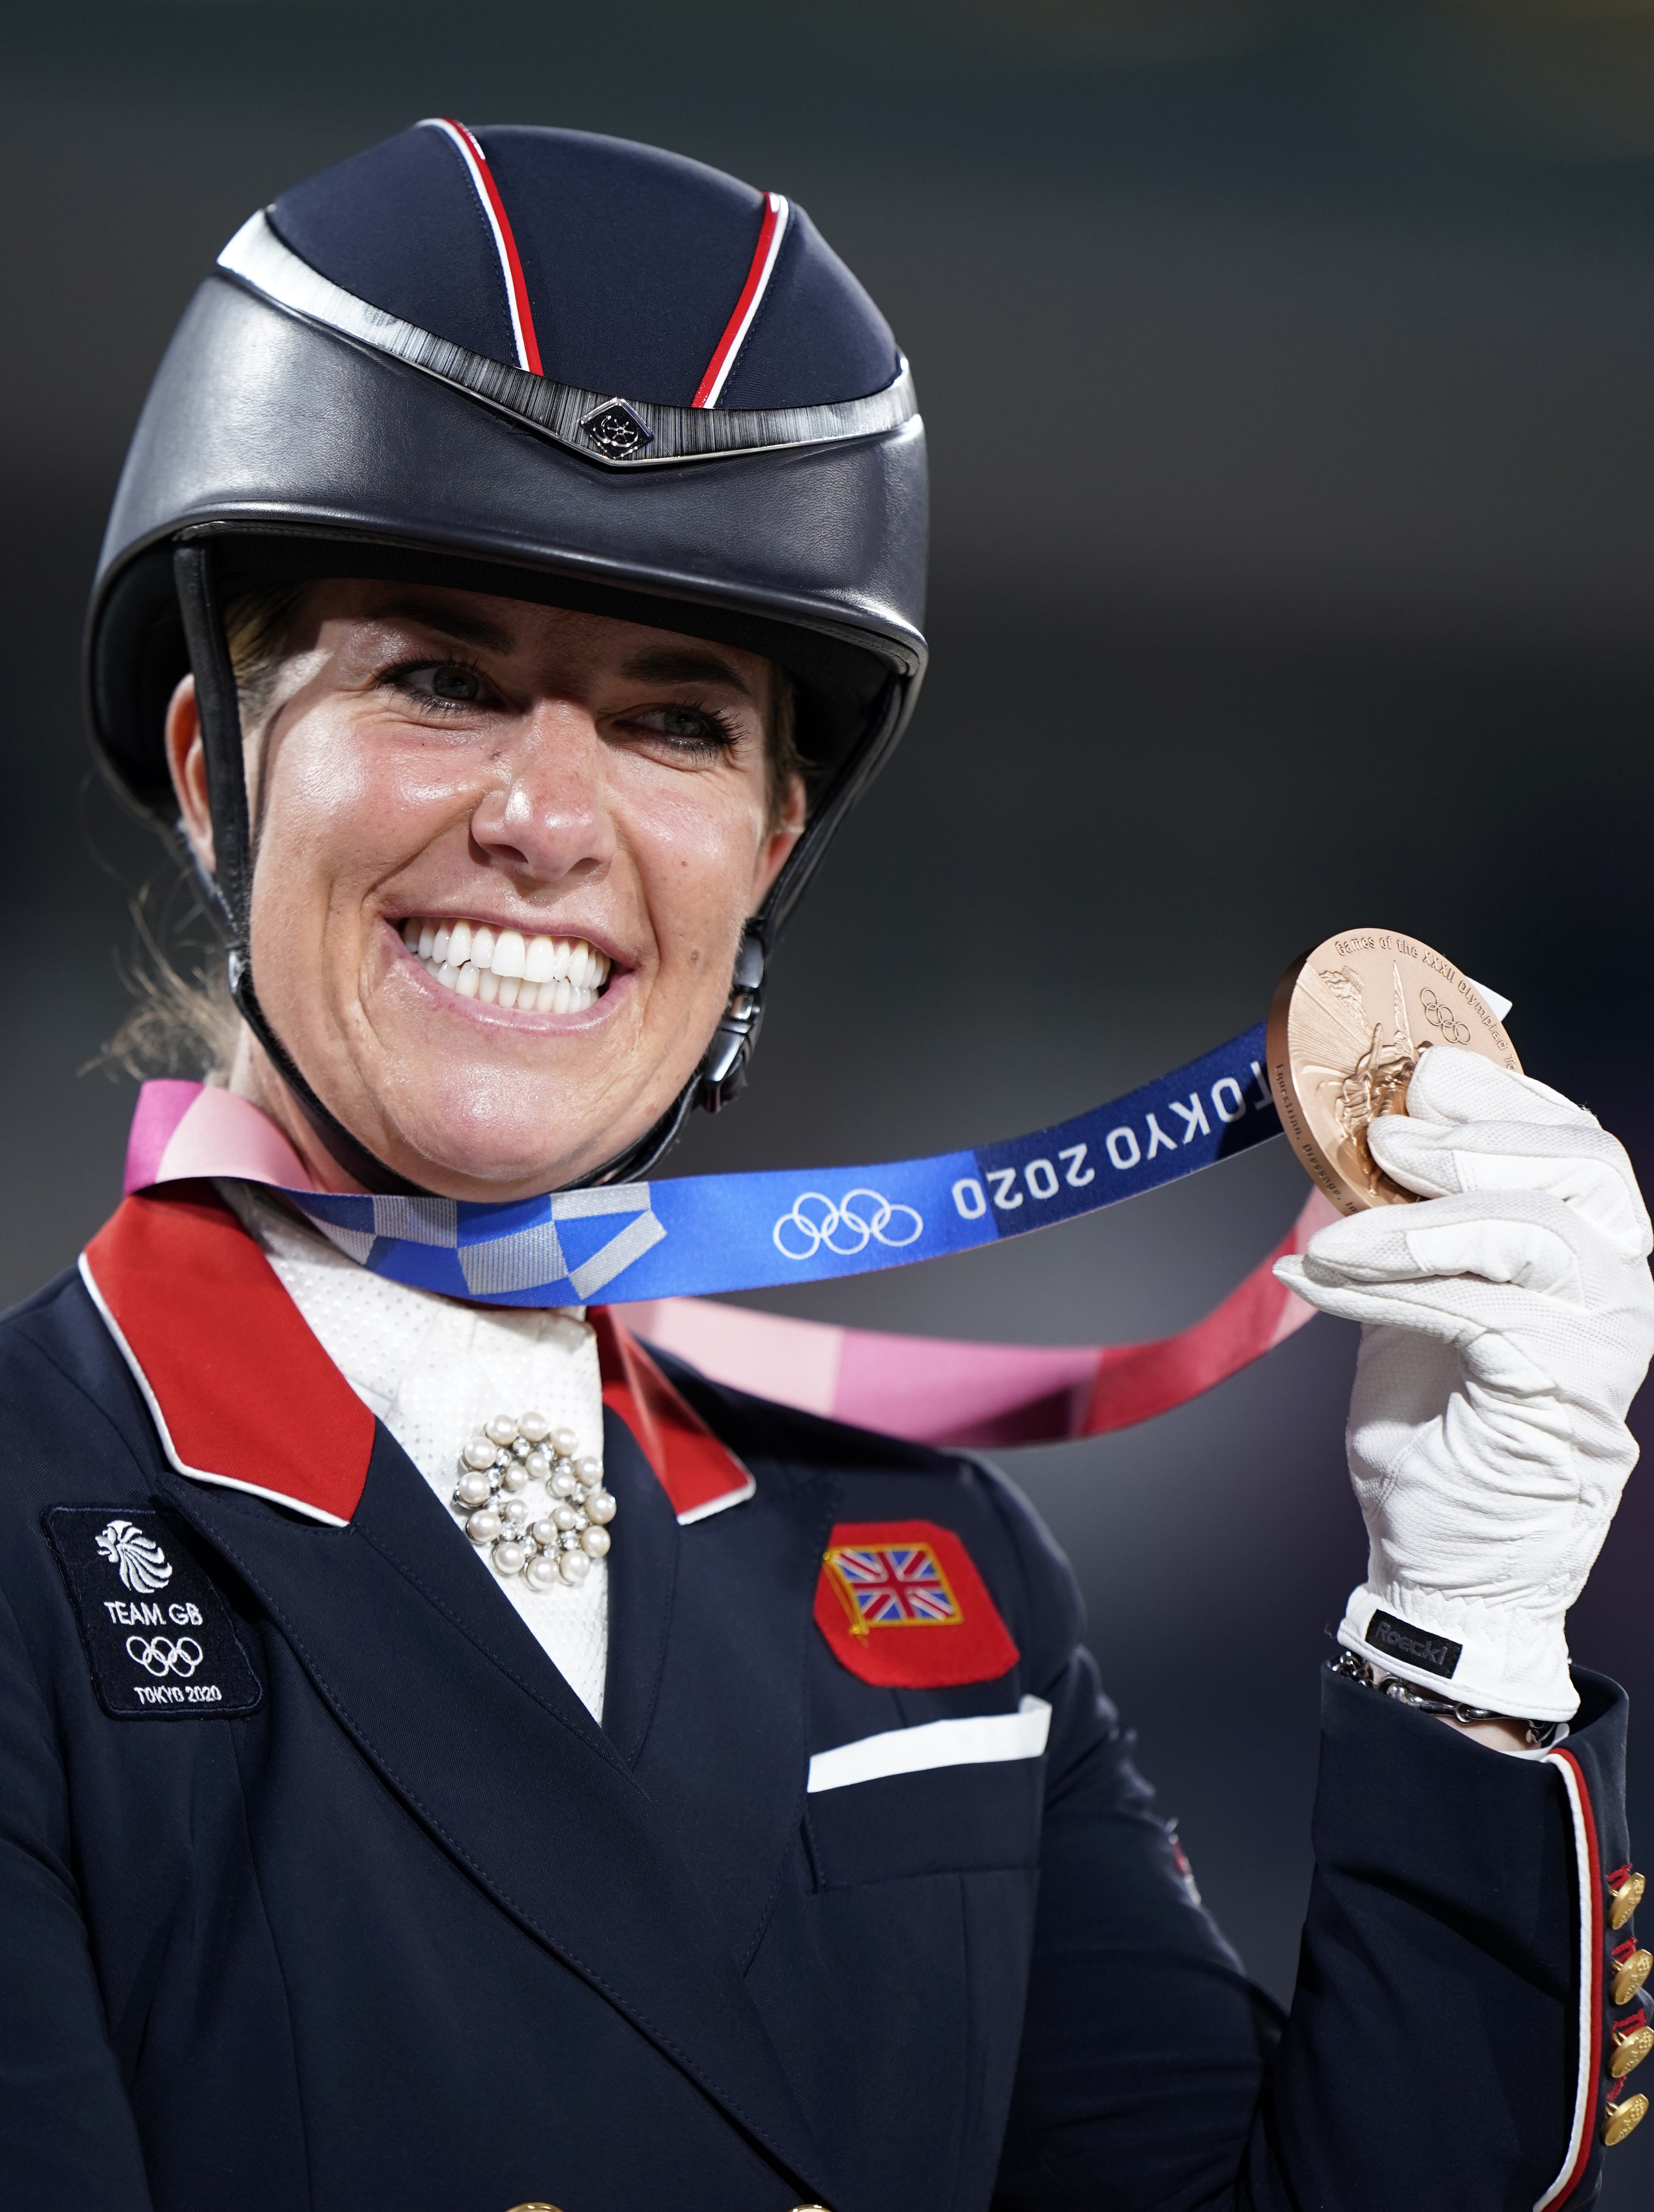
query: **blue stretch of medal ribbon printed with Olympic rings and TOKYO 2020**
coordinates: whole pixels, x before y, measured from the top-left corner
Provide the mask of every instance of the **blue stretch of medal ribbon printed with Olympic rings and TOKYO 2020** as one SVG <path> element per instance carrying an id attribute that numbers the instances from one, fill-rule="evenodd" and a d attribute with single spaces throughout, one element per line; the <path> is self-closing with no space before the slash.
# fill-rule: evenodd
<path id="1" fill-rule="evenodd" d="M 975 1152 L 681 1175 L 509 1206 L 287 1192 L 396 1283 L 493 1305 L 690 1298 L 904 1267 L 1092 1214 L 1280 1135 L 1263 1024 L 1092 1113 Z"/>

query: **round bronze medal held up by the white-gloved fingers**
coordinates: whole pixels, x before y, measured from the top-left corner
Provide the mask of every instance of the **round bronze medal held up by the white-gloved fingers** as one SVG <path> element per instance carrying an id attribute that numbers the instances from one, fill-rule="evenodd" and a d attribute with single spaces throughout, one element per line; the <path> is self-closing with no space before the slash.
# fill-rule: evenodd
<path id="1" fill-rule="evenodd" d="M 1406 1086 L 1433 1044 L 1521 1073 L 1477 984 L 1395 929 L 1344 929 L 1276 984 L 1269 1088 L 1291 1148 L 1342 1214 L 1413 1201 L 1373 1159 L 1367 1124 L 1406 1113 Z"/>

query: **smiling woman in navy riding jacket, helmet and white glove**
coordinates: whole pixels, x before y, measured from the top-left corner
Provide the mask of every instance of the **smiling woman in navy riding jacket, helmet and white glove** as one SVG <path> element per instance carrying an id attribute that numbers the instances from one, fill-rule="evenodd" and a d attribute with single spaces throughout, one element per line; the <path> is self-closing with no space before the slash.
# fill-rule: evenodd
<path id="1" fill-rule="evenodd" d="M 1285 2024 L 1015 1491 L 540 1303 L 741 1082 L 922 546 L 878 310 L 670 155 L 425 124 L 192 303 L 91 697 L 239 1026 L 201 1179 L 0 1345 L 18 2203 L 1594 2197 L 1650 1955 L 1561 1615 L 1654 1296 L 1590 1117 L 1431 1055 L 1373 1141 L 1433 1203 L 1296 1276 L 1373 1553 Z"/>

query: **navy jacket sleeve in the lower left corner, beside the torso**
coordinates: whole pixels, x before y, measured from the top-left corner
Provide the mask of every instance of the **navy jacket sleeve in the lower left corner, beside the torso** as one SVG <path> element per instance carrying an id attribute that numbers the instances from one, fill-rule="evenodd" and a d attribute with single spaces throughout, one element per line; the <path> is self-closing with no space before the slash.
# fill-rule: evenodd
<path id="1" fill-rule="evenodd" d="M 51 1712 L 0 1597 L 0 2174 L 29 2212 L 150 2212 L 69 1849 Z"/>

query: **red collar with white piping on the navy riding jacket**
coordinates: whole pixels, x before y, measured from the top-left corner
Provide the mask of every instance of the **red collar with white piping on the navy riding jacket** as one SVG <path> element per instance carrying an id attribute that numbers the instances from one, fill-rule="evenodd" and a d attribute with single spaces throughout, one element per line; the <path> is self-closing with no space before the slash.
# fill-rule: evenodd
<path id="1" fill-rule="evenodd" d="M 270 1261 L 206 1183 L 130 1197 L 80 1256 L 86 1290 L 181 1475 L 343 1528 L 360 1504 L 374 1416 Z M 752 1495 L 736 1455 L 637 1338 L 593 1312 L 604 1405 L 637 1438 L 681 1522 Z"/>

